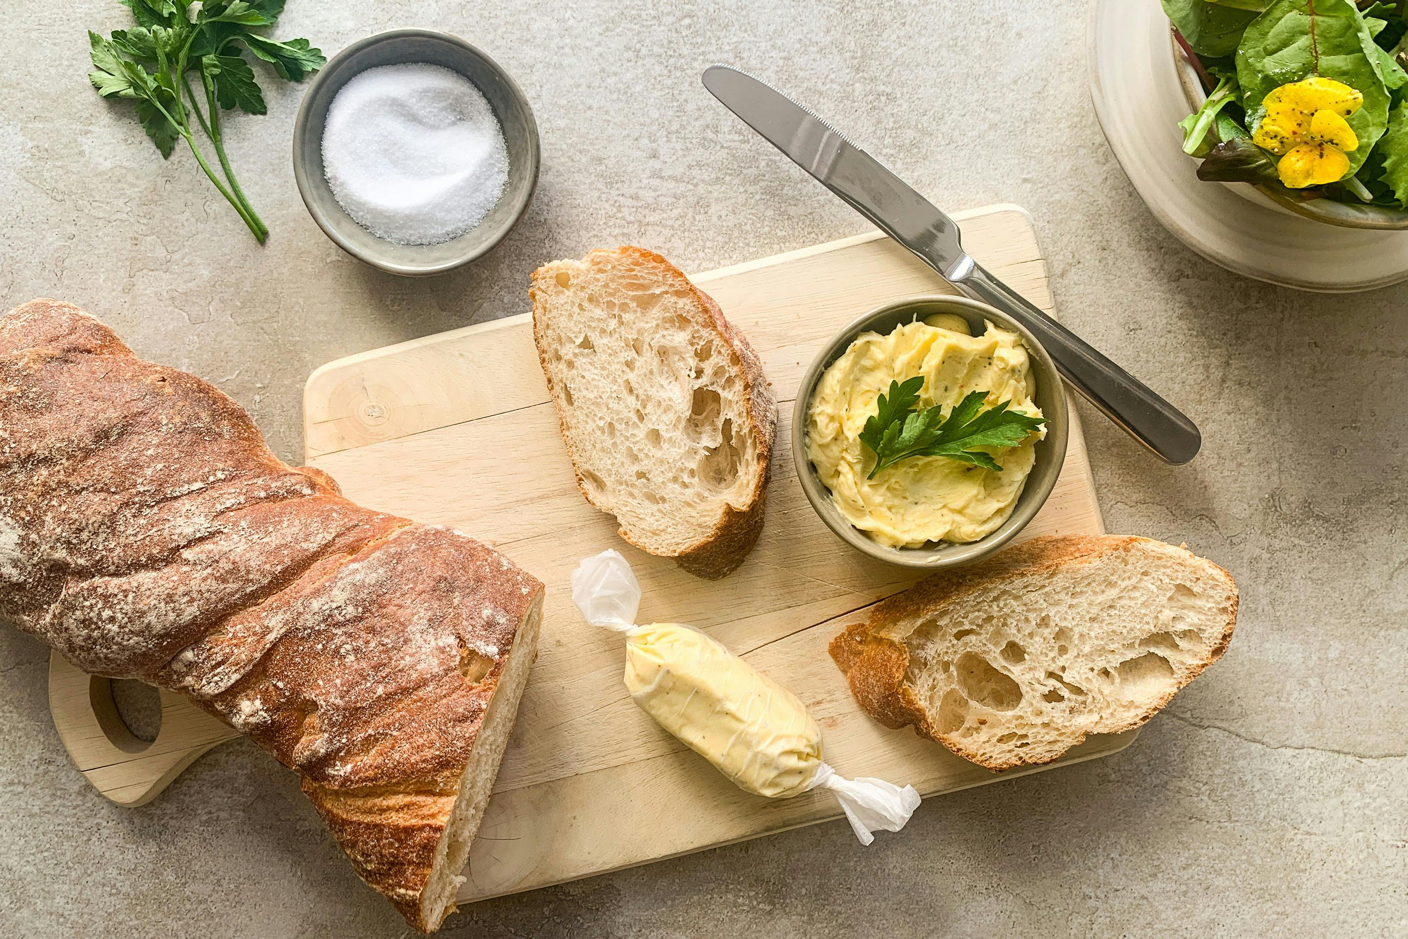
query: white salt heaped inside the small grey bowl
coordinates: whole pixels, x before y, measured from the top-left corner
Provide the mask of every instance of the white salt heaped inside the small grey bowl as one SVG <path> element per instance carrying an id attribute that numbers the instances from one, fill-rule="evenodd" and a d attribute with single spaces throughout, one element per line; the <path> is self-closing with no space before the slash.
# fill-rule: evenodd
<path id="1" fill-rule="evenodd" d="M 360 72 L 337 93 L 322 168 L 338 204 L 373 235 L 435 245 L 494 207 L 508 183 L 508 149 L 473 82 L 406 62 Z"/>

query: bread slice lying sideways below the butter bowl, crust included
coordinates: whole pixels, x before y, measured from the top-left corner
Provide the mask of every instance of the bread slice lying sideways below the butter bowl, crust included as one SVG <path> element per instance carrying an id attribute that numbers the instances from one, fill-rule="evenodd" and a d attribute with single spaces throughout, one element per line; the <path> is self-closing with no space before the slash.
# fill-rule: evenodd
<path id="1" fill-rule="evenodd" d="M 872 717 L 993 770 L 1136 728 L 1232 641 L 1231 574 L 1148 538 L 1035 538 L 872 608 L 831 657 Z"/>

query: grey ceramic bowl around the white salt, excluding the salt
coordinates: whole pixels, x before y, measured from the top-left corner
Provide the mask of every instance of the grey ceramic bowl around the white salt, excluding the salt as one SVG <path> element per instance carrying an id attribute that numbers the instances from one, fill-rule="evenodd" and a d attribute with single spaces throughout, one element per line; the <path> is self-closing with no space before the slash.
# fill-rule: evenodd
<path id="1" fill-rule="evenodd" d="M 348 215 L 322 175 L 322 124 L 348 80 L 379 65 L 429 62 L 459 72 L 484 94 L 504 128 L 508 184 L 477 227 L 438 245 L 397 245 L 377 238 Z M 293 175 L 313 221 L 339 248 L 394 275 L 438 275 L 467 265 L 504 239 L 538 186 L 538 122 L 518 84 L 487 55 L 446 32 L 391 30 L 353 42 L 318 72 L 293 125 Z"/>

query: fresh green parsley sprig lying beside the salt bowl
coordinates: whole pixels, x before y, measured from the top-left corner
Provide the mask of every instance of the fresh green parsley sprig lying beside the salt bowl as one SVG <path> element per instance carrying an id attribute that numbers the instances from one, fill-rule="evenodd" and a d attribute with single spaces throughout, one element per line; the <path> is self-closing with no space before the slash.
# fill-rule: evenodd
<path id="1" fill-rule="evenodd" d="M 289 82 L 321 69 L 327 59 L 307 39 L 277 42 L 255 30 L 270 27 L 283 13 L 284 0 L 118 0 L 132 11 L 137 25 L 117 30 L 110 39 L 89 31 L 96 72 L 89 80 L 103 97 L 137 101 L 137 120 L 146 135 L 170 158 L 177 139 L 184 139 L 201 170 L 220 194 L 235 207 L 259 244 L 269 228 L 259 218 L 239 180 L 230 168 L 230 156 L 220 134 L 220 108 L 239 108 L 263 114 L 263 93 L 255 70 L 241 53 L 241 46 L 256 59 L 268 62 Z M 201 111 L 191 90 L 189 73 L 194 72 L 206 97 Z M 191 115 L 215 148 L 224 182 L 206 162 L 196 145 Z M 228 183 L 228 186 L 227 186 Z"/>

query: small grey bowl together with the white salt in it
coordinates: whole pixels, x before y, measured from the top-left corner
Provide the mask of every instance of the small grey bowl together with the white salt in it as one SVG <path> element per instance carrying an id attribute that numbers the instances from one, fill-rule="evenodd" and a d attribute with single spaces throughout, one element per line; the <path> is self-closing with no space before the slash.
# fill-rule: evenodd
<path id="1" fill-rule="evenodd" d="M 498 63 L 463 39 L 393 30 L 317 73 L 293 130 L 308 214 L 339 248 L 404 276 L 503 241 L 538 184 L 538 124 Z"/>

